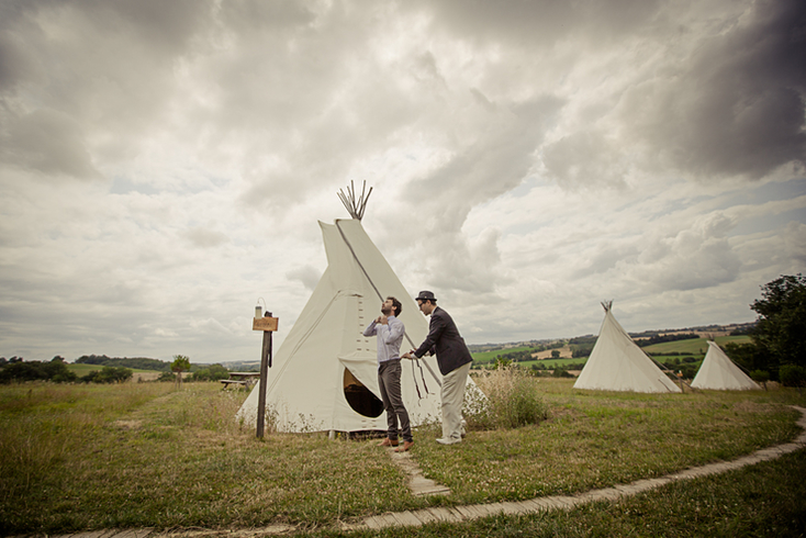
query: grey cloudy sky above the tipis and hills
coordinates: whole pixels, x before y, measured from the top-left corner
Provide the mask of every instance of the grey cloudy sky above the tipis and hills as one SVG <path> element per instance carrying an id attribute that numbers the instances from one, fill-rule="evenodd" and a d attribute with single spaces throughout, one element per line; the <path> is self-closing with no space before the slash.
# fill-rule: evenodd
<path id="1" fill-rule="evenodd" d="M 258 360 L 363 226 L 469 343 L 806 268 L 802 0 L 0 0 L 0 356 Z"/>

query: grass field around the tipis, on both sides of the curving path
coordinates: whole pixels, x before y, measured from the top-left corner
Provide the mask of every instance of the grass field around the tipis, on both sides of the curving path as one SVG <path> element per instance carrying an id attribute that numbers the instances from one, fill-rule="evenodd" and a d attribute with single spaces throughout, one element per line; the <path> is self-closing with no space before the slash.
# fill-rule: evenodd
<path id="1" fill-rule="evenodd" d="M 794 390 L 605 393 L 574 391 L 573 380 L 529 379 L 550 408 L 547 422 L 470 431 L 447 448 L 435 442 L 436 426 L 417 428 L 413 457 L 451 489 L 425 498 L 408 493 L 402 471 L 373 441 L 256 439 L 233 418 L 246 392 L 216 383 L 0 386 L 0 535 L 289 523 L 336 536 L 335 522 L 370 514 L 574 494 L 736 458 L 792 439 L 798 414 L 787 405 L 806 406 Z M 795 478 L 803 475 L 801 450 L 623 503 L 405 533 L 797 536 L 806 492 Z M 678 530 L 659 534 L 663 528 Z"/>

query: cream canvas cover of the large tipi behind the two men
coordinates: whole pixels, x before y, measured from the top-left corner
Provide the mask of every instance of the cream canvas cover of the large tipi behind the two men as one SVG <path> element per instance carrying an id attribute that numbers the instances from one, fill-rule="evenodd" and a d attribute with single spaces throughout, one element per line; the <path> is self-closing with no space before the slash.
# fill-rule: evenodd
<path id="1" fill-rule="evenodd" d="M 273 356 L 266 393 L 268 419 L 279 431 L 289 433 L 385 430 L 376 337 L 362 332 L 389 295 L 403 306 L 400 320 L 406 335 L 401 352 L 425 339 L 428 321 L 359 220 L 320 222 L 320 227 L 327 269 Z M 436 359 L 421 360 L 401 361 L 401 391 L 412 426 L 441 416 Z M 258 388 L 237 414 L 248 425 L 257 421 Z"/>

